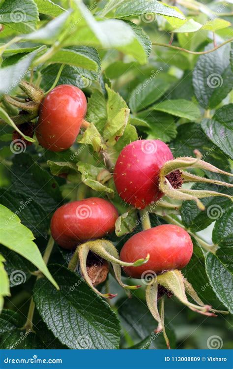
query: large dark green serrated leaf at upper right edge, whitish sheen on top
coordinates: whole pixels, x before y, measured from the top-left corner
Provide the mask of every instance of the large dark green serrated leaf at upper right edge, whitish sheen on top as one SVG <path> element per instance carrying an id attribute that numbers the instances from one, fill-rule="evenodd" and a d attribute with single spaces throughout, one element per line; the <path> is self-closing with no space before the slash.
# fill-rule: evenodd
<path id="1" fill-rule="evenodd" d="M 213 47 L 208 45 L 204 50 Z M 193 71 L 193 86 L 204 109 L 215 108 L 232 90 L 233 72 L 229 66 L 230 46 L 201 55 Z"/>

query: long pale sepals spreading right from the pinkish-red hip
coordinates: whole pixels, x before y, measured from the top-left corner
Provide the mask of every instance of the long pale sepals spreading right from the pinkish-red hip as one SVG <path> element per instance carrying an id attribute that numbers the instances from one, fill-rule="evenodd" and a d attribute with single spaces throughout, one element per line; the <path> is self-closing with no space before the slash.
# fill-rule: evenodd
<path id="1" fill-rule="evenodd" d="M 194 200 L 197 203 L 199 209 L 204 210 L 205 207 L 203 203 L 199 200 L 204 197 L 211 196 L 224 196 L 228 197 L 233 201 L 233 196 L 230 196 L 225 193 L 216 192 L 216 191 L 202 191 L 202 190 L 193 190 L 193 189 L 185 189 L 185 188 L 174 188 L 172 184 L 168 181 L 166 176 L 176 170 L 183 170 L 187 168 L 198 168 L 203 170 L 208 170 L 210 172 L 224 174 L 227 176 L 233 176 L 232 173 L 225 172 L 212 164 L 206 163 L 204 160 L 201 160 L 201 156 L 197 153 L 197 158 L 194 157 L 179 157 L 177 159 L 167 161 L 160 170 L 160 180 L 159 187 L 161 192 L 165 195 L 176 199 L 176 200 Z M 183 172 L 181 174 L 182 180 L 184 182 L 205 182 L 205 183 L 213 183 L 218 185 L 223 185 L 227 187 L 233 187 L 233 184 L 228 184 L 222 181 L 208 180 L 206 178 L 202 178 L 199 176 L 192 175 L 187 172 Z"/>

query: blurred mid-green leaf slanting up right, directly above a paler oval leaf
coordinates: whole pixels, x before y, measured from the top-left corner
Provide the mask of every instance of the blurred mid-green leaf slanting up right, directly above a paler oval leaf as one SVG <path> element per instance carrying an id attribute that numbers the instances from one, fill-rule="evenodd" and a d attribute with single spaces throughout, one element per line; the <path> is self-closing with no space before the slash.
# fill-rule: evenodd
<path id="1" fill-rule="evenodd" d="M 131 93 L 129 106 L 134 111 L 146 109 L 147 106 L 158 100 L 171 86 L 170 81 L 163 77 L 157 77 L 162 67 L 159 70 L 152 70 L 151 76 L 141 82 Z"/>

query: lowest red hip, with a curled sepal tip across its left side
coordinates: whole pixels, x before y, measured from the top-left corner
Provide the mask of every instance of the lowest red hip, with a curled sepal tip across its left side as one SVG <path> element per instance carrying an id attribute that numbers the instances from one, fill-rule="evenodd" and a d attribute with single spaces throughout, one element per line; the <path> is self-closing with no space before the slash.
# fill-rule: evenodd
<path id="1" fill-rule="evenodd" d="M 184 268 L 193 253 L 193 243 L 183 228 L 163 224 L 132 236 L 122 247 L 120 260 L 134 262 L 150 258 L 140 267 L 125 267 L 125 273 L 134 278 L 147 278 L 163 271 Z"/>

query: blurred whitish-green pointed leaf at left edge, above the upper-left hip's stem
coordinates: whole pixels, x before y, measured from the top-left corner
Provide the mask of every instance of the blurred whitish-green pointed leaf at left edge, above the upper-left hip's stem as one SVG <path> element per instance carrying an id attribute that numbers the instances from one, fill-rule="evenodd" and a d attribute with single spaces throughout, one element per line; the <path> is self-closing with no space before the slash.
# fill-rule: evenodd
<path id="1" fill-rule="evenodd" d="M 20 81 L 26 77 L 30 71 L 31 62 L 34 60 L 36 54 L 42 51 L 44 47 L 38 48 L 32 53 L 27 54 L 15 64 L 0 68 L 0 94 L 9 94 L 14 90 Z"/>

